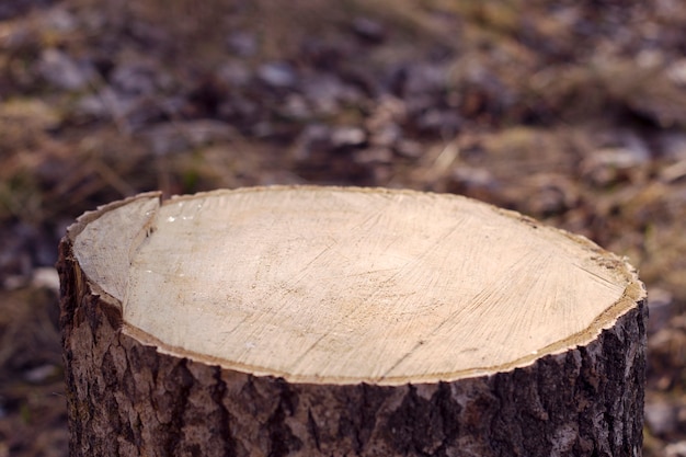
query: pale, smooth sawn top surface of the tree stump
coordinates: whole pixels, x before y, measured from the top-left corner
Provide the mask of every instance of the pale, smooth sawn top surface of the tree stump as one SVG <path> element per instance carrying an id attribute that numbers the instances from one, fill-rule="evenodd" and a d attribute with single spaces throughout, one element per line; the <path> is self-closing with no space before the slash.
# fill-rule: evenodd
<path id="1" fill-rule="evenodd" d="M 70 230 L 123 331 L 302 382 L 397 385 L 587 344 L 644 297 L 582 237 L 455 195 L 340 187 L 144 194 Z"/>

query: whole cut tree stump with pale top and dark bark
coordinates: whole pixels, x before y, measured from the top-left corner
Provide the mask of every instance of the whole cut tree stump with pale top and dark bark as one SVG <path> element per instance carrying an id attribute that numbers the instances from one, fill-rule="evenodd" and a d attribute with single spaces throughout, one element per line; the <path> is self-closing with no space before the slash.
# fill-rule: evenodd
<path id="1" fill-rule="evenodd" d="M 640 456 L 645 293 L 455 195 L 256 187 L 60 244 L 72 456 Z"/>

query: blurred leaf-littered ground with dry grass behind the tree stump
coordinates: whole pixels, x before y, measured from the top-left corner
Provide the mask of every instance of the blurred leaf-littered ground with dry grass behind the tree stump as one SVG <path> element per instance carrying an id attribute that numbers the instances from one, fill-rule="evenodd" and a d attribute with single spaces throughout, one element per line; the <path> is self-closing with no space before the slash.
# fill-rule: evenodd
<path id="1" fill-rule="evenodd" d="M 0 457 L 67 456 L 57 244 L 161 190 L 476 197 L 629 258 L 686 456 L 684 0 L 1 0 Z"/>

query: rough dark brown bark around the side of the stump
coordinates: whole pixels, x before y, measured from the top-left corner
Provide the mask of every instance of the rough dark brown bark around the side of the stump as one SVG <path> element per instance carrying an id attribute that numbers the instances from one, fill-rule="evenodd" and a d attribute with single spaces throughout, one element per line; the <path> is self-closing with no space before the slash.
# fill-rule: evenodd
<path id="1" fill-rule="evenodd" d="M 162 354 L 60 244 L 72 456 L 640 456 L 643 301 L 587 345 L 490 376 L 288 382 Z M 364 354 L 361 354 L 364 357 Z"/>

